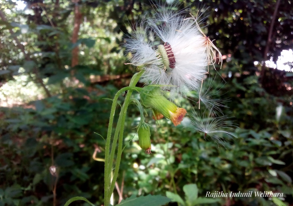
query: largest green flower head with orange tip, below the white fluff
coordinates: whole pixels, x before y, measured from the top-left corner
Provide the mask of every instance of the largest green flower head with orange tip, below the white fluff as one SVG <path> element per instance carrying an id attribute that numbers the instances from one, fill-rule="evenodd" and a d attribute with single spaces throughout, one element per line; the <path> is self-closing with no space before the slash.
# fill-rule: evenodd
<path id="1" fill-rule="evenodd" d="M 170 102 L 161 94 L 160 87 L 143 87 L 143 90 L 140 92 L 140 99 L 144 107 L 158 111 L 161 115 L 170 119 L 175 126 L 181 123 L 186 114 L 185 109 L 177 107 L 176 104 Z"/>

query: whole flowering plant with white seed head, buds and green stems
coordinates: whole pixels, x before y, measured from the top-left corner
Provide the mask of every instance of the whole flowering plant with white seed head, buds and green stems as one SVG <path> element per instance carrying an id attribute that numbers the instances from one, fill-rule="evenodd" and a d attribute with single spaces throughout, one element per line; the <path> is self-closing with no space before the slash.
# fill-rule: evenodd
<path id="1" fill-rule="evenodd" d="M 204 78 L 209 73 L 208 66 L 216 63 L 217 58 L 213 49 L 217 50 L 217 48 L 201 31 L 197 18 L 184 15 L 184 12 L 175 13 L 170 9 L 162 9 L 154 16 L 145 17 L 136 28 L 132 36 L 126 40 L 125 47 L 132 55 L 130 63 L 127 64 L 136 66 L 138 72 L 132 77 L 128 87 L 117 92 L 110 113 L 104 160 L 105 206 L 110 204 L 115 187 L 123 151 L 127 107 L 131 103 L 134 103 L 140 111 L 140 123 L 137 125 L 139 146 L 148 154 L 151 153 L 150 126 L 145 122 L 143 108 L 151 109 L 153 119 L 159 120 L 165 117 L 177 126 L 187 111 L 174 102 L 179 96 L 186 97 L 190 91 L 198 91 L 199 105 L 202 100 L 201 102 L 208 105 L 206 108 L 210 114 L 217 110 L 215 108 L 222 106 L 217 101 L 217 104 L 207 104 L 209 101 L 205 98 L 206 91 L 202 90 Z M 219 53 L 219 61 L 222 61 L 221 56 Z M 136 87 L 139 80 L 145 83 L 144 87 Z M 131 98 L 133 92 L 140 94 L 140 101 Z M 112 139 L 117 99 L 121 95 L 125 96 L 125 101 Z M 204 132 L 205 136 L 211 133 L 212 137 L 215 137 L 218 128 L 221 129 L 219 132 L 231 134 L 222 130 L 225 126 L 219 124 L 221 120 L 224 119 L 217 118 L 210 121 L 212 125 L 208 125 L 208 121 L 203 123 L 194 118 L 193 129 Z M 113 169 L 117 143 L 117 158 Z"/>

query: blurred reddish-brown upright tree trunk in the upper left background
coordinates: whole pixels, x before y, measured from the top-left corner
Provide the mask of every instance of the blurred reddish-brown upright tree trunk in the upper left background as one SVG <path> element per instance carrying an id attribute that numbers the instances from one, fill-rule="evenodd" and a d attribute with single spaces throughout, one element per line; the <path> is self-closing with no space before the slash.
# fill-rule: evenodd
<path id="1" fill-rule="evenodd" d="M 74 6 L 74 28 L 73 28 L 71 42 L 75 44 L 78 39 L 78 32 L 79 32 L 79 28 L 81 24 L 82 14 L 80 13 L 79 5 L 78 5 L 79 0 L 72 0 L 72 2 L 75 4 L 75 6 Z M 71 67 L 78 65 L 78 52 L 79 52 L 79 48 L 78 46 L 76 46 L 72 50 Z"/>

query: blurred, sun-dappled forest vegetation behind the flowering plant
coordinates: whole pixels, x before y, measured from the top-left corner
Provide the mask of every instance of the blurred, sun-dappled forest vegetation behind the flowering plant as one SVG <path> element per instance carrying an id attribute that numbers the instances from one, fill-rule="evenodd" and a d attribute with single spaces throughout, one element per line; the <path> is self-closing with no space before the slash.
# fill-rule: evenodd
<path id="1" fill-rule="evenodd" d="M 106 136 L 111 101 L 105 98 L 135 73 L 124 65 L 123 38 L 158 3 L 24 0 L 22 10 L 20 1 L 0 2 L 0 205 L 64 205 L 75 196 L 101 205 L 104 163 L 92 156 L 96 151 L 103 159 L 105 143 L 94 132 Z M 293 75 L 264 62 L 292 49 L 292 4 L 186 0 L 174 6 L 191 13 L 207 8 L 201 26 L 224 57 L 222 70 L 211 71 L 211 90 L 227 98 L 223 112 L 239 126 L 237 138 L 221 145 L 184 130 L 190 118 L 174 127 L 166 119 L 156 124 L 150 114 L 153 153 L 147 155 L 134 129 L 139 112 L 130 107 L 117 181 L 123 199 L 178 194 L 185 201 L 184 185 L 193 183 L 200 197 L 207 191 L 284 193 L 280 199 L 220 198 L 214 205 L 293 204 Z M 197 107 L 192 100 L 180 100 L 189 114 Z M 170 205 L 194 205 L 177 202 Z"/>

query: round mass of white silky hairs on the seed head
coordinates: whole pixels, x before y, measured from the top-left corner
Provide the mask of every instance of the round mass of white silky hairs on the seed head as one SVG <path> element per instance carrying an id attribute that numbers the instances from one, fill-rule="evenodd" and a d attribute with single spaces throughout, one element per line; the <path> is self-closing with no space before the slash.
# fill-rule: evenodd
<path id="1" fill-rule="evenodd" d="M 163 8 L 153 17 L 145 17 L 137 28 L 125 46 L 132 53 L 130 62 L 145 70 L 143 82 L 165 85 L 162 89 L 170 91 L 170 99 L 200 87 L 207 72 L 207 46 L 195 20 L 186 19 L 183 12 Z M 150 32 L 155 41 L 150 40 Z M 165 42 L 173 50 L 174 68 L 164 68 L 157 58 L 156 46 Z"/>

